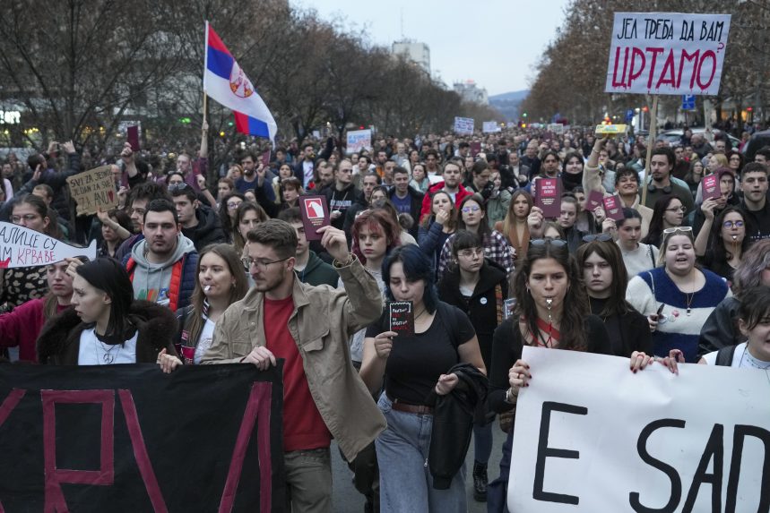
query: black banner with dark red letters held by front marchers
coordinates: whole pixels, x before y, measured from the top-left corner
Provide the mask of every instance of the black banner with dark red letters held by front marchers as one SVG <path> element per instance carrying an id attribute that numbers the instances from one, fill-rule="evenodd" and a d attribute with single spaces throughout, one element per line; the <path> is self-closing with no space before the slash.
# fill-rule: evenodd
<path id="1" fill-rule="evenodd" d="M 281 377 L 0 364 L 0 513 L 283 511 Z"/>

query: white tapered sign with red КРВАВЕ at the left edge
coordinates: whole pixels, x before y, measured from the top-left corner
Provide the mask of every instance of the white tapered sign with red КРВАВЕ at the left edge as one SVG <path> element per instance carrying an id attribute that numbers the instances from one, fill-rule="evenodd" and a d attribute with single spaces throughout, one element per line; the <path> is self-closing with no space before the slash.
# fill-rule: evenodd
<path id="1" fill-rule="evenodd" d="M 78 248 L 31 228 L 0 222 L 0 269 L 40 267 L 77 256 L 94 260 L 96 241 Z"/>

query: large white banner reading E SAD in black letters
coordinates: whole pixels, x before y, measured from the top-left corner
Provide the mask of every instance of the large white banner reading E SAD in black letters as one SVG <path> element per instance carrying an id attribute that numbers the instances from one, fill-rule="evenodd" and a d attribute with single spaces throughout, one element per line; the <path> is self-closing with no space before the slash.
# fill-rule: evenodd
<path id="1" fill-rule="evenodd" d="M 526 346 L 508 509 L 767 511 L 770 372 Z M 764 473 L 764 474 L 763 474 Z"/>

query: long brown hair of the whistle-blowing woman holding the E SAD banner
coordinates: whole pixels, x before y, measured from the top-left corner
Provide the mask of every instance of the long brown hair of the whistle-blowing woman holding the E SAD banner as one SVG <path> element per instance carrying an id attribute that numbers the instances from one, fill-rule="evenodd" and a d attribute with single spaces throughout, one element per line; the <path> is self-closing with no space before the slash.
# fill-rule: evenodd
<path id="1" fill-rule="evenodd" d="M 537 307 L 532 295 L 527 293 L 527 279 L 532 272 L 532 263 L 541 259 L 553 259 L 567 273 L 567 294 L 564 297 L 564 308 L 561 316 L 559 331 L 561 339 L 558 346 L 561 349 L 585 351 L 587 348 L 584 319 L 590 313 L 588 294 L 585 292 L 577 262 L 569 254 L 567 244 L 556 245 L 549 241 L 546 244 L 530 244 L 526 258 L 520 260 L 514 278 L 514 294 L 516 298 L 516 315 L 523 316 L 527 328 L 532 333 L 538 333 Z"/>

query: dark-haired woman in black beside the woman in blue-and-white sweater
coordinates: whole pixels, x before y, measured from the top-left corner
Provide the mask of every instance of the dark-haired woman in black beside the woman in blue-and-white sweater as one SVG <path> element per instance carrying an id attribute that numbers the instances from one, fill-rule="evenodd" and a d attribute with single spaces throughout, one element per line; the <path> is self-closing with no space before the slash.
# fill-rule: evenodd
<path id="1" fill-rule="evenodd" d="M 590 312 L 604 321 L 610 334 L 612 354 L 630 357 L 639 351 L 652 355 L 653 339 L 647 320 L 626 301 L 626 266 L 612 237 L 596 236 L 578 248 L 575 259 L 577 267 L 583 269 Z"/>

